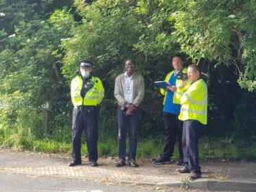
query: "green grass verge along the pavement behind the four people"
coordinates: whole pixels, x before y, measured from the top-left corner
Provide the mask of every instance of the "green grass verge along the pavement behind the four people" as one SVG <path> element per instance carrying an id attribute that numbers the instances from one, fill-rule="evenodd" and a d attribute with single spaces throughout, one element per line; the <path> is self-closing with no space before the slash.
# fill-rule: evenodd
<path id="1" fill-rule="evenodd" d="M 118 133 L 116 129 L 103 132 L 99 131 L 98 141 L 99 156 L 118 156 Z M 38 133 L 37 133 L 38 135 Z M 81 154 L 88 154 L 86 139 L 82 137 Z M 5 148 L 20 148 L 22 150 L 34 150 L 38 152 L 66 152 L 71 154 L 72 139 L 71 128 L 55 128 L 51 135 L 40 135 L 39 138 L 31 128 L 0 128 L 0 146 Z M 128 153 L 129 139 L 127 139 Z M 138 158 L 158 159 L 164 148 L 164 135 L 159 138 L 140 139 L 138 141 Z M 213 141 L 201 139 L 199 143 L 199 158 L 201 160 L 255 160 L 256 143 L 250 145 L 236 146 L 235 143 L 227 143 L 225 139 Z M 174 160 L 179 159 L 177 145 L 172 156 Z"/>

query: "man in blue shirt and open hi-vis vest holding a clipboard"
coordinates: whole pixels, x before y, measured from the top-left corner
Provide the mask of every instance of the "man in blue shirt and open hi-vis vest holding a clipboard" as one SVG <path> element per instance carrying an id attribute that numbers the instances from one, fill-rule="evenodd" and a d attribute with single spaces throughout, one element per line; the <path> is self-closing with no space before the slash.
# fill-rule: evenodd
<path id="1" fill-rule="evenodd" d="M 180 80 L 177 79 L 180 72 L 187 72 L 187 68 L 183 68 L 183 59 L 180 55 L 175 55 L 172 58 L 172 66 L 175 68 L 166 76 L 166 82 L 170 84 L 166 90 L 161 89 L 164 97 L 164 126 L 165 126 L 165 146 L 164 152 L 160 159 L 155 160 L 155 165 L 170 164 L 170 157 L 175 148 L 176 138 L 179 138 L 179 161 L 177 165 L 184 165 L 183 163 L 183 150 L 182 150 L 182 128 L 183 122 L 179 120 L 178 116 L 181 111 L 181 105 L 177 100 L 175 94 L 177 91 L 176 85 Z"/>

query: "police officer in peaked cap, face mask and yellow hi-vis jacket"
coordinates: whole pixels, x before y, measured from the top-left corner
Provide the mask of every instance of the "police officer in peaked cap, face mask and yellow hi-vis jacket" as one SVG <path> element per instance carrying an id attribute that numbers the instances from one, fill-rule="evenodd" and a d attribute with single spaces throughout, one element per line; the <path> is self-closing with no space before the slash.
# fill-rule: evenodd
<path id="1" fill-rule="evenodd" d="M 93 63 L 81 60 L 80 72 L 71 83 L 71 99 L 73 110 L 72 155 L 69 166 L 81 164 L 81 134 L 86 133 L 89 161 L 92 167 L 97 167 L 98 150 L 98 115 L 99 104 L 104 97 L 104 88 L 98 77 L 91 75 Z"/>

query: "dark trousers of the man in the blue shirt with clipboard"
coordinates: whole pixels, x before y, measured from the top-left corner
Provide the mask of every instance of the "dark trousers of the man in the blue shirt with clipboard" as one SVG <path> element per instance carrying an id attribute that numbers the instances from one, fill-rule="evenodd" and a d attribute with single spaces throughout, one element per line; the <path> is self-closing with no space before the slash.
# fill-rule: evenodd
<path id="1" fill-rule="evenodd" d="M 179 159 L 183 161 L 182 150 L 182 128 L 183 122 L 179 120 L 178 115 L 164 112 L 164 127 L 166 133 L 164 152 L 162 157 L 170 160 L 175 148 L 175 143 L 178 135 L 179 141 Z"/>

